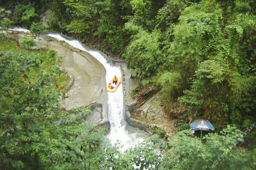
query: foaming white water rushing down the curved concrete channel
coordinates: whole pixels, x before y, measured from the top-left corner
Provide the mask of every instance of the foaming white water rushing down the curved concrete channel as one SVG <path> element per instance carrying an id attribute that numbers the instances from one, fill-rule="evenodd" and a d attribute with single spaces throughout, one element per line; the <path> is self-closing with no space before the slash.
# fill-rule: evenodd
<path id="1" fill-rule="evenodd" d="M 12 28 L 11 30 L 30 32 L 23 28 Z M 78 40 L 66 39 L 61 34 L 48 33 L 47 36 L 51 36 L 57 40 L 66 41 L 69 45 L 86 51 L 95 57 L 106 69 L 106 87 L 110 80 L 113 79 L 114 75 L 120 77 L 122 80 L 121 70 L 119 66 L 111 66 L 107 62 L 106 58 L 101 55 L 97 50 L 86 50 Z M 120 151 L 126 151 L 141 142 L 146 138 L 149 138 L 149 134 L 145 131 L 134 128 L 126 123 L 123 117 L 123 87 L 122 83 L 119 85 L 116 91 L 107 92 L 107 103 L 108 103 L 108 119 L 110 121 L 110 132 L 106 138 L 112 145 L 120 143 L 122 148 Z"/>

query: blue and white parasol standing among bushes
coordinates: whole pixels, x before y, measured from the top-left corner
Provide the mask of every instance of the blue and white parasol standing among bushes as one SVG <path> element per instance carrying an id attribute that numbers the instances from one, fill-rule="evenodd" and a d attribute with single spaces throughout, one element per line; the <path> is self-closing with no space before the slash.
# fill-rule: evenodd
<path id="1" fill-rule="evenodd" d="M 196 130 L 201 130 L 201 137 L 202 138 L 202 130 L 214 130 L 213 125 L 208 121 L 204 119 L 197 119 L 193 121 L 193 123 L 190 124 L 190 131 L 193 134 Z"/>

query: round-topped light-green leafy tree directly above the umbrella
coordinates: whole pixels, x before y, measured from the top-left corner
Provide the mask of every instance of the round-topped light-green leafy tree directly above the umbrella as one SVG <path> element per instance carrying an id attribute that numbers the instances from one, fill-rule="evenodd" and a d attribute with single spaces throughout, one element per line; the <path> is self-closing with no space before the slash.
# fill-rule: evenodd
<path id="1" fill-rule="evenodd" d="M 205 113 L 208 119 L 209 117 L 219 117 L 220 114 L 223 117 L 223 114 L 229 111 L 227 98 L 223 94 L 225 74 L 226 66 L 222 66 L 217 61 L 206 60 L 200 63 L 194 75 L 192 89 L 185 90 L 184 96 L 180 97 L 179 101 L 191 108 L 195 115 L 205 112 L 200 109 L 207 108 L 207 112 L 211 112 L 211 114 Z"/>

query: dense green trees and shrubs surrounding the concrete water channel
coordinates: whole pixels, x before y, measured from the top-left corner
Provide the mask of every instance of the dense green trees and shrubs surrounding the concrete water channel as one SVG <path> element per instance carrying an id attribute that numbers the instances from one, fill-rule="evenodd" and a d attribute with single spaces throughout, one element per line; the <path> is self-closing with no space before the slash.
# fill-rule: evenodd
<path id="1" fill-rule="evenodd" d="M 122 55 L 138 86 L 160 87 L 161 106 L 170 117 L 170 108 L 182 106 L 186 111 L 178 116 L 185 122 L 205 118 L 217 129 L 232 125 L 206 136 L 204 144 L 179 132 L 162 159 L 147 146 L 120 154 L 102 143 L 101 130 L 78 124 L 77 115 L 88 114 L 87 109 L 67 116 L 58 107 L 60 91 L 49 86 L 51 74 L 39 71 L 38 56 L 5 49 L 0 63 L 2 169 L 132 169 L 133 164 L 142 169 L 255 169 L 254 0 L 4 0 L 0 6 L 2 28 L 31 28 L 50 10 L 48 30 L 81 40 L 93 35 Z"/>

